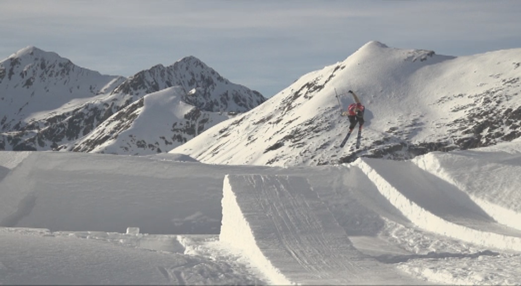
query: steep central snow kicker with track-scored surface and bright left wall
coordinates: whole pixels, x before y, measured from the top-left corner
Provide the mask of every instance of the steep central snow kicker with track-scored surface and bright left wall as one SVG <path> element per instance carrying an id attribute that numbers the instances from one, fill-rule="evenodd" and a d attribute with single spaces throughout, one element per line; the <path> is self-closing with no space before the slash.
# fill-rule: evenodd
<path id="1" fill-rule="evenodd" d="M 274 284 L 402 284 L 392 266 L 356 250 L 302 177 L 227 175 L 219 240 L 241 248 Z"/>

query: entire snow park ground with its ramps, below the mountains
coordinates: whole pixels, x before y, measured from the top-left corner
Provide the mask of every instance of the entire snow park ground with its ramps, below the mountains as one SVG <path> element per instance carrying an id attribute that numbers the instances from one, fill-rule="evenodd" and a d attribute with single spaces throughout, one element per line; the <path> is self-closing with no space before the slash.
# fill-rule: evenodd
<path id="1" fill-rule="evenodd" d="M 521 142 L 206 165 L 0 152 L 0 284 L 516 284 Z"/>

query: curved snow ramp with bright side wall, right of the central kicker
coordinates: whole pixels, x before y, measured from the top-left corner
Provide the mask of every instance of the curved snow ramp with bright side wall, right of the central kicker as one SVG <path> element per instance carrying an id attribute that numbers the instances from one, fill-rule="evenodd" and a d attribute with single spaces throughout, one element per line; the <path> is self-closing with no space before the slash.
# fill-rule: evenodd
<path id="1" fill-rule="evenodd" d="M 486 247 L 521 251 L 521 231 L 501 225 L 468 194 L 412 161 L 359 158 L 354 166 L 419 228 Z"/>

